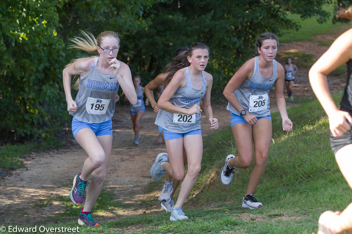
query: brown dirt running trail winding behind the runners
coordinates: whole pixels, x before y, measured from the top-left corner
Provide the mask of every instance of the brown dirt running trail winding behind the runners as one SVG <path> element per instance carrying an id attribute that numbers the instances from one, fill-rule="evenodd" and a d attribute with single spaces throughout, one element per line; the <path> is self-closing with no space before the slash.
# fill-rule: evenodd
<path id="1" fill-rule="evenodd" d="M 316 43 L 310 45 L 310 43 L 312 42 L 280 44 L 279 52 L 313 53 L 315 51 L 323 52 L 328 48 L 327 46 L 319 47 Z M 307 51 L 309 48 L 315 48 L 315 50 Z M 315 59 L 320 55 L 314 54 Z M 298 69 L 300 70 L 295 75 L 294 97 L 297 97 L 298 100 L 311 98 L 313 92 L 308 82 L 308 69 L 300 67 Z M 336 92 L 342 90 L 344 82 L 340 79 L 330 79 L 329 86 L 333 92 Z M 284 94 L 287 99 L 285 89 Z M 274 95 L 275 92 L 272 91 L 270 93 L 271 112 L 277 111 Z M 226 104 L 225 102 L 213 104 L 214 117 L 218 118 L 220 129 L 228 128 L 230 125 L 230 112 L 226 110 Z M 293 104 L 287 103 L 288 108 L 291 105 Z M 117 201 L 139 203 L 140 199 L 146 199 L 148 196 L 151 199 L 157 199 L 158 195 L 150 195 L 145 192 L 147 184 L 153 181 L 149 173 L 150 166 L 157 154 L 166 152 L 165 144 L 157 144 L 155 141 L 158 136 L 157 126 L 154 124 L 155 117 L 156 113 L 151 108 L 146 108 L 141 121 L 139 145 L 135 146 L 132 144 L 133 130 L 129 107 L 118 106 L 116 108 L 112 118 L 114 139 L 111 162 L 103 190 L 112 191 L 116 195 Z M 214 132 L 214 130 L 210 131 L 205 115 L 202 115 L 201 121 L 203 137 Z M 69 143 L 61 149 L 27 155 L 24 160 L 24 168 L 12 171 L 10 175 L 0 178 L 0 220 L 11 218 L 12 224 L 20 225 L 32 225 L 39 222 L 54 223 L 55 220 L 49 218 L 67 209 L 61 202 L 50 200 L 50 197 L 65 196 L 69 198 L 69 185 L 71 185 L 73 177 L 81 171 L 83 161 L 87 157 L 72 134 L 70 136 Z M 49 200 L 50 202 L 45 206 L 38 205 Z M 162 208 L 159 204 L 137 209 L 136 206 L 131 206 L 125 207 L 123 210 L 96 215 L 100 216 L 99 221 L 108 221 L 150 212 L 162 212 Z"/>

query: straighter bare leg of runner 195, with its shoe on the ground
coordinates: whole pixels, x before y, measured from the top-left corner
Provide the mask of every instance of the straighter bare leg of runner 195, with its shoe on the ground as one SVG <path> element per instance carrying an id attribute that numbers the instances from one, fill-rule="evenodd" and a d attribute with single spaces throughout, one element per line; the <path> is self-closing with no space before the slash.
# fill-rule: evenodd
<path id="1" fill-rule="evenodd" d="M 110 162 L 111 157 L 111 147 L 112 147 L 112 135 L 97 136 L 101 147 L 105 152 L 105 161 L 92 173 L 92 179 L 90 180 L 89 186 L 87 188 L 86 202 L 84 203 L 83 211 L 90 212 L 96 199 L 100 194 L 101 188 L 103 187 L 103 182 L 106 174 L 106 169 Z"/>

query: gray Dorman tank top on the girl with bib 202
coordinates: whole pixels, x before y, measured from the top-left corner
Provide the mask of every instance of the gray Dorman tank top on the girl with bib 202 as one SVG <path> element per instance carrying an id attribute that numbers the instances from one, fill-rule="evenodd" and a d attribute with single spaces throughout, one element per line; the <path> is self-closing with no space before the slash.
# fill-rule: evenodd
<path id="1" fill-rule="evenodd" d="M 190 109 L 194 104 L 199 105 L 199 101 L 203 98 L 203 96 L 205 95 L 205 92 L 207 91 L 207 82 L 205 80 L 205 76 L 202 71 L 203 86 L 200 90 L 194 89 L 189 77 L 188 67 L 186 67 L 186 73 L 187 73 L 187 85 L 184 87 L 178 88 L 174 93 L 174 95 L 172 95 L 172 97 L 170 98 L 169 102 L 175 106 Z M 176 115 L 177 115 L 177 119 L 179 119 L 178 115 L 184 116 L 181 114 L 176 114 Z M 195 115 L 195 123 L 177 123 L 177 122 L 174 122 L 174 119 L 175 119 L 174 113 L 160 110 L 156 117 L 155 124 L 158 126 L 161 126 L 163 129 L 166 129 L 170 132 L 185 133 L 185 132 L 200 129 L 200 117 L 201 117 L 200 113 Z"/>

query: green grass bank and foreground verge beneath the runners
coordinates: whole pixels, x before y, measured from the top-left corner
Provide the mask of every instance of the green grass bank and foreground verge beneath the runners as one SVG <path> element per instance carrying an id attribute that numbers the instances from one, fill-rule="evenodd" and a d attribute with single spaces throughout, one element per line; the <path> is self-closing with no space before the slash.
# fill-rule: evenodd
<path id="1" fill-rule="evenodd" d="M 334 94 L 333 98 L 338 102 L 341 94 Z M 288 115 L 294 123 L 291 133 L 282 131 L 279 113 L 272 114 L 268 164 L 255 194 L 263 207 L 254 210 L 241 207 L 252 167 L 236 169 L 228 186 L 219 181 L 219 170 L 226 155 L 236 154 L 228 128 L 204 139 L 202 169 L 190 196 L 195 197 L 188 200 L 200 208 L 185 210 L 189 220 L 171 222 L 169 214 L 153 213 L 103 222 L 101 228 L 80 227 L 80 232 L 316 233 L 320 214 L 325 210 L 343 210 L 352 200 L 351 189 L 329 146 L 328 119 L 319 102 L 302 102 L 291 107 Z M 64 203 L 67 211 L 57 220 L 58 224 L 45 227 L 76 227 L 76 222 L 63 222 L 75 220 L 80 207 L 70 203 L 67 197 L 55 199 Z M 138 206 L 158 202 L 146 197 Z M 112 192 L 103 191 L 93 209 L 104 212 L 128 206 L 115 201 Z M 95 217 L 99 220 L 99 216 Z"/>

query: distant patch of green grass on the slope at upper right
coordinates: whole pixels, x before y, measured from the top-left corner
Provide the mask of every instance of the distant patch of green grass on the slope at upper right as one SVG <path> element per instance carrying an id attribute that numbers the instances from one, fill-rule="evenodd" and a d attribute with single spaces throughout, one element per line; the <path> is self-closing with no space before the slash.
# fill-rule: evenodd
<path id="1" fill-rule="evenodd" d="M 326 5 L 323 7 L 326 11 L 330 12 L 330 17 L 323 24 L 319 24 L 316 18 L 308 18 L 302 20 L 300 15 L 288 13 L 287 18 L 295 22 L 298 22 L 301 25 L 300 30 L 284 30 L 283 35 L 279 37 L 280 42 L 289 43 L 291 41 L 300 41 L 300 40 L 316 40 L 314 37 L 316 35 L 335 33 L 341 31 L 341 28 L 345 30 L 349 29 L 351 25 L 337 22 L 336 24 L 332 23 L 333 17 L 333 6 Z"/>

